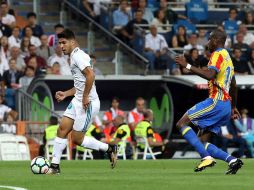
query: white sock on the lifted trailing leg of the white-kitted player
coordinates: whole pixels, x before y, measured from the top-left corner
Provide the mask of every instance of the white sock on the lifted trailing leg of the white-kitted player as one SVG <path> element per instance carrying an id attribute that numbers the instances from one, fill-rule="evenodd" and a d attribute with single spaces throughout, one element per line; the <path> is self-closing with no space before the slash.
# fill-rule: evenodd
<path id="1" fill-rule="evenodd" d="M 90 148 L 93 150 L 102 150 L 103 152 L 106 152 L 108 150 L 108 144 L 98 141 L 93 137 L 87 137 L 87 136 L 84 137 L 84 140 L 81 146 L 85 148 Z"/>

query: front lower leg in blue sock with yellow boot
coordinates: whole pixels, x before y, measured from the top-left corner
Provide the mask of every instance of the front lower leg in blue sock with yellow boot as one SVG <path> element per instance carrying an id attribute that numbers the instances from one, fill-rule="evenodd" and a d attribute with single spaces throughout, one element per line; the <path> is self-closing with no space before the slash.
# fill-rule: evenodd
<path id="1" fill-rule="evenodd" d="M 188 115 L 184 114 L 184 116 L 177 122 L 176 125 L 181 134 L 183 135 L 183 137 L 187 140 L 189 144 L 191 144 L 196 149 L 196 151 L 202 158 L 201 163 L 194 169 L 195 172 L 199 172 L 207 167 L 214 166 L 216 162 L 207 152 L 204 145 L 199 140 L 198 136 L 193 131 L 193 129 L 190 126 L 188 126 L 190 122 L 191 121 Z"/>

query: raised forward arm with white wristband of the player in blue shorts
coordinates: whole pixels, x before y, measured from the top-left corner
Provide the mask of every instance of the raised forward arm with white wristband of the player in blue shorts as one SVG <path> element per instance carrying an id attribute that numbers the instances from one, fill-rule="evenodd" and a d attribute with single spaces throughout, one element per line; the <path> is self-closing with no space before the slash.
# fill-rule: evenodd
<path id="1" fill-rule="evenodd" d="M 188 63 L 186 61 L 186 59 L 184 58 L 184 56 L 177 56 L 176 57 L 176 63 L 184 68 L 187 67 Z M 213 78 L 215 78 L 216 76 L 216 71 L 214 69 L 207 69 L 207 70 L 203 70 L 200 68 L 197 68 L 193 65 L 191 65 L 190 68 L 187 68 L 190 71 L 192 71 L 193 73 L 195 73 L 196 75 L 206 79 L 206 80 L 211 80 Z"/>

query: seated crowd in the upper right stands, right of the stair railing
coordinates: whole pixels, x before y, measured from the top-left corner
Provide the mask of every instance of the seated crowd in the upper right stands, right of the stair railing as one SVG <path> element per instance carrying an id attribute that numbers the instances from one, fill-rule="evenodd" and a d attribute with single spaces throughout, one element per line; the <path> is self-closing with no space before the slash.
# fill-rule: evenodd
<path id="1" fill-rule="evenodd" d="M 191 74 L 177 67 L 174 61 L 177 54 L 184 54 L 191 65 L 206 69 L 211 56 L 206 43 L 212 29 L 196 28 L 196 24 L 216 24 L 218 29 L 228 34 L 225 48 L 231 53 L 236 73 L 254 74 L 254 17 L 250 1 L 244 1 L 250 3 L 244 6 L 221 5 L 223 8 L 228 8 L 228 12 L 225 12 L 228 16 L 226 20 L 219 23 L 216 20 L 209 20 L 208 17 L 208 2 L 213 1 L 186 2 L 185 14 L 175 12 L 174 6 L 169 5 L 168 2 L 167 0 L 83 0 L 83 5 L 87 14 L 100 22 L 100 3 L 111 3 L 114 7 L 110 9 L 113 34 L 147 58 L 151 71 L 164 69 L 175 75 Z M 238 1 L 218 0 L 218 2 L 237 3 Z M 243 8 L 244 10 L 241 10 Z M 169 49 L 174 53 L 172 54 Z"/>

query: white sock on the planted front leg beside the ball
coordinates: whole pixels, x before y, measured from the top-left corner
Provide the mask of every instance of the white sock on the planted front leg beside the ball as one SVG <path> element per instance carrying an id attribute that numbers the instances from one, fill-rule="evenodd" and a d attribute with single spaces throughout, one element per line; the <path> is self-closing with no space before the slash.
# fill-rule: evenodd
<path id="1" fill-rule="evenodd" d="M 55 138 L 54 147 L 53 147 L 53 158 L 51 163 L 53 164 L 60 163 L 63 150 L 66 148 L 66 146 L 67 146 L 67 139 L 62 139 L 59 137 Z"/>

